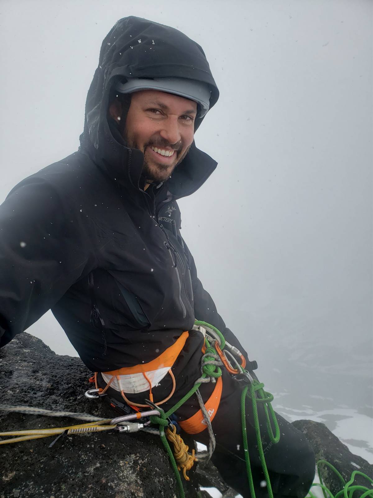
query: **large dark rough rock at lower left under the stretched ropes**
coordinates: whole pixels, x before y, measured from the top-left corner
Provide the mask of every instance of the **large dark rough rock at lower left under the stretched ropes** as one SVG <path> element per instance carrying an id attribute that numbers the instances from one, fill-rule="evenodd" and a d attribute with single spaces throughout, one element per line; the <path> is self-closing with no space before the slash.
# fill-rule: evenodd
<path id="1" fill-rule="evenodd" d="M 42 341 L 22 333 L 0 350 L 0 405 L 118 414 L 103 400 L 90 400 L 91 373 L 79 358 L 58 356 Z M 2 430 L 64 427 L 84 423 L 0 411 Z M 107 431 L 0 445 L 0 497 L 150 498 L 177 496 L 174 473 L 158 436 Z M 189 473 L 190 474 L 190 473 Z M 192 474 L 192 473 L 191 473 Z M 186 496 L 196 484 L 186 483 Z"/>

